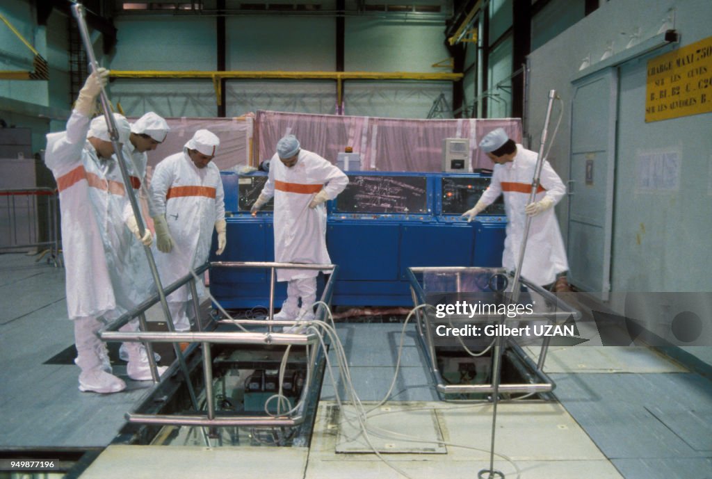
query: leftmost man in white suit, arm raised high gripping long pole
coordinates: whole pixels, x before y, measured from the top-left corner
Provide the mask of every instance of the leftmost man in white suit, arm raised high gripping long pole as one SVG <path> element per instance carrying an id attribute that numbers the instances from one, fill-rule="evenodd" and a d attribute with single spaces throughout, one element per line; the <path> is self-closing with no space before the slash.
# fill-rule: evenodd
<path id="1" fill-rule="evenodd" d="M 122 391 L 122 379 L 105 371 L 105 344 L 97 332 L 106 317 L 117 309 L 112 288 L 105 238 L 110 237 L 112 216 L 109 196 L 123 192 L 123 184 L 107 173 L 116 167 L 112 143 L 105 140 L 98 117 L 90 122 L 96 99 L 108 79 L 108 70 L 98 68 L 80 90 L 65 132 L 47 135 L 45 162 L 57 181 L 61 208 L 63 256 L 66 270 L 68 317 L 74 322 L 75 364 L 81 369 L 80 391 Z M 129 125 L 115 115 L 120 142 L 127 140 Z M 123 223 L 120 223 L 123 226 Z M 135 325 L 125 325 L 132 330 Z M 143 364 L 132 354 L 127 372 L 142 379 Z"/>

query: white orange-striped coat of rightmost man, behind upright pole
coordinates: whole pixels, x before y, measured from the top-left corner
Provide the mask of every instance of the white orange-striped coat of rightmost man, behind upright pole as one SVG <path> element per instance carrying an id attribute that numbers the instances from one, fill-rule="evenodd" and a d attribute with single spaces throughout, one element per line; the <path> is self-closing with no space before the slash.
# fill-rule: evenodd
<path id="1" fill-rule="evenodd" d="M 481 196 L 485 204 L 492 204 L 500 194 L 504 195 L 507 213 L 507 237 L 504 241 L 502 265 L 508 270 L 517 267 L 519 248 L 524 234 L 526 214 L 532 179 L 538 154 L 517 144 L 517 154 L 513 162 L 496 164 L 490 186 Z M 566 187 L 549 162 L 545 162 L 540 176 L 540 189 L 535 201 L 544 196 L 557 204 L 566 193 Z M 559 223 L 554 208 L 550 208 L 532 218 L 529 227 L 521 275 L 536 285 L 548 285 L 556 279 L 557 273 L 568 270 L 566 251 L 561 238 Z"/>

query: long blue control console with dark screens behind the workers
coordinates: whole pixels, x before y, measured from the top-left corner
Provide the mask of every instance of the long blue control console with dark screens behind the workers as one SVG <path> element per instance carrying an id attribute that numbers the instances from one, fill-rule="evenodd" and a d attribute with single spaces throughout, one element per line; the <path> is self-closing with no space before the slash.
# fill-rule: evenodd
<path id="1" fill-rule="evenodd" d="M 249 209 L 266 182 L 262 172 L 221 174 L 227 247 L 211 260 L 272 261 L 272 204 Z M 501 199 L 467 223 L 487 188 L 486 174 L 348 172 L 350 183 L 328 202 L 327 246 L 339 266 L 334 305 L 412 305 L 407 268 L 501 265 L 506 216 Z M 214 248 L 211 249 L 214 251 Z M 211 293 L 226 308 L 267 306 L 267 270 L 212 270 Z M 278 283 L 275 306 L 286 296 Z"/>

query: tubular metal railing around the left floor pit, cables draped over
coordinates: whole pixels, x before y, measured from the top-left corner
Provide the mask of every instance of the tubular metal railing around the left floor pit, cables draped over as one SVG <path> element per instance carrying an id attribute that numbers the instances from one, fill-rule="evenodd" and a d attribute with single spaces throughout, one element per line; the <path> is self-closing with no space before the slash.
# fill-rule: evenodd
<path id="1" fill-rule="evenodd" d="M 209 268 L 269 268 L 271 270 L 271 283 L 270 283 L 270 305 L 269 305 L 269 315 L 265 320 L 216 320 L 214 321 L 215 327 L 219 325 L 236 325 L 241 327 L 241 331 L 205 331 L 201 325 L 200 315 L 199 315 L 199 304 L 197 288 L 195 287 L 195 278 L 199 277 L 201 273 L 208 270 Z M 273 319 L 274 310 L 274 288 L 275 288 L 275 273 L 277 268 L 283 269 L 305 269 L 305 270 L 323 270 L 330 271 L 329 279 L 325 285 L 323 294 L 320 301 L 326 305 L 330 304 L 331 296 L 333 293 L 334 283 L 335 283 L 335 273 L 337 272 L 337 266 L 328 264 L 295 264 L 295 263 L 268 263 L 268 262 L 213 262 L 201 265 L 199 268 L 194 270 L 195 275 L 189 274 L 184 276 L 171 285 L 164 288 L 164 295 L 169 295 L 183 285 L 189 285 L 191 289 L 191 294 L 193 297 L 193 306 L 195 310 L 195 317 L 197 318 L 197 332 L 175 332 L 174 328 L 169 328 L 169 332 L 148 332 L 146 331 L 145 322 L 145 312 L 157 304 L 160 301 L 159 295 L 152 295 L 151 298 L 142 302 L 135 310 L 125 313 L 117 320 L 111 322 L 110 324 L 103 327 L 99 336 L 103 341 L 127 341 L 127 342 L 143 342 L 147 346 L 148 359 L 153 369 L 154 381 L 158 381 L 157 377 L 157 367 L 155 360 L 153 359 L 151 344 L 162 342 L 162 343 L 173 343 L 177 350 L 177 356 L 179 360 L 179 366 L 183 370 L 184 380 L 189 392 L 192 396 L 192 401 L 194 403 L 194 409 L 201 410 L 197 405 L 197 399 L 194 391 L 192 390 L 192 382 L 190 380 L 189 371 L 187 366 L 182 359 L 182 354 L 179 353 L 177 344 L 181 342 L 189 343 L 199 343 L 202 347 L 203 354 L 203 379 L 204 379 L 204 390 L 205 390 L 205 403 L 206 403 L 206 414 L 137 414 L 129 413 L 127 414 L 127 419 L 133 423 L 143 423 L 143 424 L 163 424 L 163 425 L 173 425 L 173 426 L 207 426 L 207 427 L 218 427 L 218 426 L 269 426 L 269 427 L 284 427 L 284 426 L 298 426 L 305 420 L 305 408 L 307 406 L 307 396 L 309 391 L 315 387 L 318 381 L 318 374 L 315 374 L 315 367 L 320 362 L 323 357 L 324 351 L 320 347 L 321 340 L 320 337 L 315 332 L 310 332 L 307 328 L 309 325 L 323 320 L 326 315 L 327 308 L 320 304 L 318 305 L 317 312 L 315 314 L 314 320 L 309 321 L 282 321 Z M 119 329 L 126 325 L 127 322 L 137 317 L 140 320 L 140 331 L 137 332 L 125 332 Z M 172 319 L 170 319 L 172 321 Z M 250 325 L 261 325 L 266 326 L 266 332 L 256 332 L 248 331 L 244 326 Z M 303 333 L 290 333 L 290 332 L 276 332 L 276 326 L 303 326 L 305 332 Z M 293 407 L 289 412 L 290 414 L 285 414 L 283 416 L 216 416 L 215 404 L 214 404 L 214 392 L 213 392 L 213 374 L 212 374 L 212 359 L 211 359 L 211 349 L 213 344 L 251 344 L 251 345 L 284 345 L 284 346 L 303 346 L 306 347 L 306 354 L 308 356 L 307 361 L 307 374 L 308 380 L 305 381 L 303 389 L 300 394 L 300 398 L 296 406 Z M 174 367 L 174 366 L 172 366 Z M 168 373 L 165 375 L 167 376 Z"/>

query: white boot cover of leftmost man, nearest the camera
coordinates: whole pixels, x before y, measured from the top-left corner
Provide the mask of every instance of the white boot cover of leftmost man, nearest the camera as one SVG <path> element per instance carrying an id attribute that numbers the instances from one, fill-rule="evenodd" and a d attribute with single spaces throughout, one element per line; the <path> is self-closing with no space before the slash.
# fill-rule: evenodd
<path id="1" fill-rule="evenodd" d="M 81 368 L 79 390 L 100 394 L 110 394 L 126 389 L 126 383 L 105 372 L 102 364 L 103 342 L 96 332 L 101 323 L 95 317 L 83 317 L 74 320 L 74 342 L 77 348 L 75 364 Z"/>

